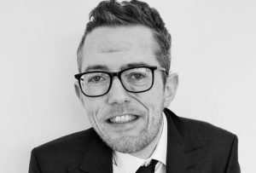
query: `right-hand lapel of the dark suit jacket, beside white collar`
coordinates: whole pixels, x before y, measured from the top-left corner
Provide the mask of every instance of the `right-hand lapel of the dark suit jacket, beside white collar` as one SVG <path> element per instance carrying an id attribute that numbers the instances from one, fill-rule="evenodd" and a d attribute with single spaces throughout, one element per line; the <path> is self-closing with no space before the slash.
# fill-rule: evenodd
<path id="1" fill-rule="evenodd" d="M 201 159 L 206 150 L 201 141 L 186 136 L 183 122 L 165 109 L 168 127 L 166 172 L 201 172 Z"/>

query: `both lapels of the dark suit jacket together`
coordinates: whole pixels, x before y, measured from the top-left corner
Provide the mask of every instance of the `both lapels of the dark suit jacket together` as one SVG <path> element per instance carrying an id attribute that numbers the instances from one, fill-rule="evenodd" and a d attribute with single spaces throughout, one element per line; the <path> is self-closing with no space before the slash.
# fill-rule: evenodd
<path id="1" fill-rule="evenodd" d="M 166 172 L 199 172 L 201 159 L 206 153 L 203 143 L 187 135 L 188 129 L 172 111 L 165 109 L 164 112 L 168 128 Z M 69 173 L 113 172 L 113 151 L 96 132 L 95 136 L 79 169 L 69 168 Z"/>

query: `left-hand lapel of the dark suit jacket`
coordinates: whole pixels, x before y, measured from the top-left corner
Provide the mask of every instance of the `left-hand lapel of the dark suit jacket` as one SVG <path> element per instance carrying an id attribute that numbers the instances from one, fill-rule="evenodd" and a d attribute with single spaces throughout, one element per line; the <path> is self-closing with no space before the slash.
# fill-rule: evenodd
<path id="1" fill-rule="evenodd" d="M 112 173 L 112 154 L 110 147 L 102 141 L 95 133 L 96 139 L 89 141 L 89 148 L 84 155 L 84 159 L 77 168 L 69 168 L 69 173 Z"/>

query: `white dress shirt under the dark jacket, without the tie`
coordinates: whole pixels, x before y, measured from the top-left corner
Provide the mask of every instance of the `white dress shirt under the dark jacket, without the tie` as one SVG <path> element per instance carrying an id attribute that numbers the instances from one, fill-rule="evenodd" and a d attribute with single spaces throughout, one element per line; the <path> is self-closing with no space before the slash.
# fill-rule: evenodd
<path id="1" fill-rule="evenodd" d="M 113 152 L 113 173 L 135 173 L 140 166 L 150 164 L 152 159 L 158 161 L 155 165 L 155 173 L 166 173 L 167 151 L 167 120 L 163 113 L 164 125 L 160 140 L 154 149 L 154 153 L 148 159 L 140 159 L 128 153 Z"/>

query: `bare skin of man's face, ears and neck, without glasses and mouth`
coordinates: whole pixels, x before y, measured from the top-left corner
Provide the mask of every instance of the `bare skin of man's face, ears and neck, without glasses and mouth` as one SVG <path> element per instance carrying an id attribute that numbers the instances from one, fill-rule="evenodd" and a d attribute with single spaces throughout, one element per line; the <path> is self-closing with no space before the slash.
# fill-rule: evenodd
<path id="1" fill-rule="evenodd" d="M 145 26 L 97 27 L 85 38 L 80 52 L 81 70 L 101 70 L 95 67 L 105 66 L 105 71 L 116 72 L 134 63 L 160 66 L 154 55 L 158 47 L 153 32 Z M 109 147 L 146 159 L 160 138 L 162 110 L 170 105 L 176 93 L 177 74 L 170 75 L 164 86 L 161 72 L 155 71 L 152 89 L 137 94 L 127 92 L 118 78 L 113 78 L 108 94 L 100 97 L 83 95 L 78 83 L 75 89 L 90 124 Z M 125 114 L 136 115 L 137 119 L 125 124 L 108 121 Z"/>

